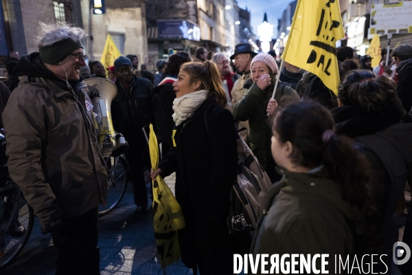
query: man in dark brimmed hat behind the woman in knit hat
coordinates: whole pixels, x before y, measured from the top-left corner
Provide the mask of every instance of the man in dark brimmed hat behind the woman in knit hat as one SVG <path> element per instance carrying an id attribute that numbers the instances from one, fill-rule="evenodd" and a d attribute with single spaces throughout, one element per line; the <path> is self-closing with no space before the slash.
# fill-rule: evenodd
<path id="1" fill-rule="evenodd" d="M 233 84 L 233 88 L 231 90 L 231 105 L 232 108 L 236 105 L 238 101 L 240 101 L 243 97 L 244 92 L 247 90 L 243 87 L 246 80 L 251 78 L 251 61 L 253 57 L 257 53 L 254 52 L 255 48 L 253 45 L 249 43 L 240 43 L 235 46 L 235 52 L 233 56 L 230 57 L 231 60 L 235 60 L 233 65 L 235 65 L 236 70 L 239 74 L 242 74 L 238 80 L 236 80 L 235 84 Z M 240 121 L 238 122 L 238 129 L 246 128 L 249 129 L 249 122 L 248 121 Z"/>

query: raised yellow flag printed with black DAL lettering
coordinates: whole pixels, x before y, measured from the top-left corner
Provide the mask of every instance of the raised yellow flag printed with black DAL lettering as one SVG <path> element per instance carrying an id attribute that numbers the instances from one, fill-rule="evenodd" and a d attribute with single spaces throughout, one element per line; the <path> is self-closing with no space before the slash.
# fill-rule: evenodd
<path id="1" fill-rule="evenodd" d="M 282 59 L 321 78 L 338 93 L 336 41 L 345 36 L 337 0 L 299 0 Z"/>

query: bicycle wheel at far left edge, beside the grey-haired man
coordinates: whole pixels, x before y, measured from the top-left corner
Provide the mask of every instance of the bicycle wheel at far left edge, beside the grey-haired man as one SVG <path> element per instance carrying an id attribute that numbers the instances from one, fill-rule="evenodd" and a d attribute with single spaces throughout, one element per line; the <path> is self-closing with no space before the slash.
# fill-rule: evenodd
<path id="1" fill-rule="evenodd" d="M 14 183 L 12 183 L 14 184 Z M 0 270 L 10 265 L 23 250 L 34 224 L 33 208 L 27 205 L 21 190 L 15 186 L 14 192 L 0 195 L 0 242 L 4 240 L 3 246 L 0 243 Z M 9 211 L 10 214 L 5 214 Z M 12 236 L 8 229 L 12 223 L 19 221 L 20 225 L 26 229 L 23 236 Z"/>

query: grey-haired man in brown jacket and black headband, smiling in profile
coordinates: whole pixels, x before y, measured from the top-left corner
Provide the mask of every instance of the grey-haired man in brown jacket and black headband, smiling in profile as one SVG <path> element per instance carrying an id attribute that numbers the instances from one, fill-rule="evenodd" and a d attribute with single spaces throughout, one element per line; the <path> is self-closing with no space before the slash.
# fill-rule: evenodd
<path id="1" fill-rule="evenodd" d="M 80 76 L 84 31 L 41 24 L 38 50 L 14 67 L 21 76 L 3 111 L 10 176 L 58 248 L 56 274 L 100 274 L 98 206 L 107 174 Z"/>

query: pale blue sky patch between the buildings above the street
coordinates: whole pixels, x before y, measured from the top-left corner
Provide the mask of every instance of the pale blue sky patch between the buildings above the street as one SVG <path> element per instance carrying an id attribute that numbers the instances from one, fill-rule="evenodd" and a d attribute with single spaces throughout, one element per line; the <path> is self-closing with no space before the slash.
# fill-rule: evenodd
<path id="1" fill-rule="evenodd" d="M 264 12 L 268 14 L 268 23 L 273 27 L 273 38 L 277 34 L 277 19 L 282 17 L 282 13 L 293 0 L 238 0 L 238 6 L 246 8 L 251 12 L 251 24 L 253 33 L 258 35 L 258 25 L 263 22 Z M 256 37 L 258 39 L 258 37 Z"/>

